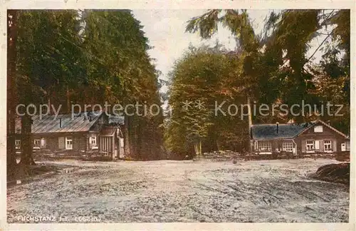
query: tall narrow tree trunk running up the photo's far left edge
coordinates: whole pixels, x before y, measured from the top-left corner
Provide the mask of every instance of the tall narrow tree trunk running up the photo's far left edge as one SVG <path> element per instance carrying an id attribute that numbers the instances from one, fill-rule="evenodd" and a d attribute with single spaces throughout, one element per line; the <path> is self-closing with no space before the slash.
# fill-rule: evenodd
<path id="1" fill-rule="evenodd" d="M 10 19 L 9 16 L 12 16 Z M 7 15 L 7 176 L 12 178 L 16 168 L 15 122 L 16 122 L 16 41 L 17 41 L 17 10 L 9 10 Z M 11 22 L 11 25 L 10 25 Z"/>

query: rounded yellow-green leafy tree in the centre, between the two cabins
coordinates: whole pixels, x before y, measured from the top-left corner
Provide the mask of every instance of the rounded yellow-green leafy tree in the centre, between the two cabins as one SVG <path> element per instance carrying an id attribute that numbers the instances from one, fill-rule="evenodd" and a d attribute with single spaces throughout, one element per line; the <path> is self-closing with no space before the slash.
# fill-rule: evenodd
<path id="1" fill-rule="evenodd" d="M 194 144 L 201 141 L 203 150 L 216 150 L 218 146 L 236 148 L 236 140 L 243 142 L 246 133 L 241 133 L 235 125 L 245 121 L 215 115 L 214 111 L 216 103 L 222 101 L 226 105 L 244 102 L 245 98 L 241 97 L 244 89 L 235 87 L 244 81 L 242 66 L 241 61 L 236 61 L 224 49 L 208 47 L 190 48 L 175 63 L 169 88 L 172 113 L 164 133 L 170 152 L 184 158 L 192 155 Z M 200 108 L 199 103 L 202 103 Z"/>

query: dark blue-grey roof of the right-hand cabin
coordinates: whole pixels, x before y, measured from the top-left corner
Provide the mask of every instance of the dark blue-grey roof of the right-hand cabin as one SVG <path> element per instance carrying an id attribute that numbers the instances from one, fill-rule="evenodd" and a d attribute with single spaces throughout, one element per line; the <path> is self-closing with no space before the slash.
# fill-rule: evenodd
<path id="1" fill-rule="evenodd" d="M 290 139 L 315 123 L 256 124 L 251 126 L 252 138 L 256 140 Z"/>

